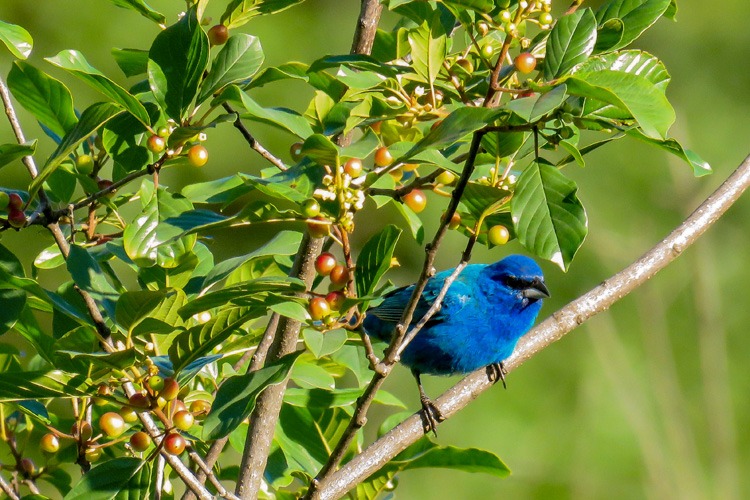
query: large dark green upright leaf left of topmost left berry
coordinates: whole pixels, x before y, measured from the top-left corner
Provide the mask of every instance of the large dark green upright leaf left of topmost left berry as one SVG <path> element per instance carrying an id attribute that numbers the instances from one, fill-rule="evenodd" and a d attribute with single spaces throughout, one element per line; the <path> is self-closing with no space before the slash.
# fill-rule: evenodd
<path id="1" fill-rule="evenodd" d="M 208 64 L 208 37 L 188 12 L 154 39 L 148 57 L 151 91 L 167 116 L 182 122 Z"/>

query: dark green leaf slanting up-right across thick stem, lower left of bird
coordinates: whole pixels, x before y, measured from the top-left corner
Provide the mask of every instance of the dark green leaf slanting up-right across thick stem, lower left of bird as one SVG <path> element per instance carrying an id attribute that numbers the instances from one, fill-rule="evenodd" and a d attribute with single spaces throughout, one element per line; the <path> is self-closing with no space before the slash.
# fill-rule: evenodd
<path id="1" fill-rule="evenodd" d="M 203 422 L 203 439 L 219 439 L 237 428 L 253 411 L 255 400 L 263 389 L 286 380 L 302 352 L 288 354 L 260 370 L 226 379 L 219 387 L 211 412 Z"/>

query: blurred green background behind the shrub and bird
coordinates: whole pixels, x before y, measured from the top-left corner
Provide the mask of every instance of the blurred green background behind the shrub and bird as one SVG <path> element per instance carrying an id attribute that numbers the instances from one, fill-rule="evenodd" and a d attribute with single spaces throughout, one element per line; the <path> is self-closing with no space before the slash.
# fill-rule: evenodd
<path id="1" fill-rule="evenodd" d="M 170 21 L 184 4 L 152 0 Z M 213 0 L 218 17 L 224 2 Z M 215 4 L 215 5 L 214 5 Z M 567 2 L 555 2 L 559 8 Z M 564 4 L 564 5 L 563 5 Z M 586 2 L 584 5 L 595 5 Z M 620 270 L 665 236 L 716 188 L 750 151 L 750 2 L 712 4 L 679 0 L 678 22 L 660 21 L 636 47 L 662 58 L 673 81 L 668 97 L 677 111 L 673 135 L 711 163 L 701 179 L 678 160 L 633 141 L 618 141 L 588 157 L 587 167 L 569 167 L 588 209 L 590 234 L 567 274 L 552 265 L 545 273 L 553 298 L 551 314 Z M 266 64 L 310 62 L 346 53 L 359 2 L 308 0 L 301 7 L 255 20 L 243 31 L 261 38 Z M 31 62 L 68 84 L 77 107 L 99 100 L 43 61 L 63 49 L 78 49 L 107 74 L 126 82 L 112 61 L 112 47 L 148 48 L 156 26 L 105 0 L 2 0 L 0 19 L 27 28 L 35 39 Z M 386 26 L 392 19 L 386 18 Z M 0 51 L 0 72 L 10 56 Z M 132 83 L 132 82 L 130 82 Z M 310 95 L 294 84 L 262 89 L 266 105 L 304 110 Z M 40 137 L 39 158 L 52 147 L 38 126 L 21 115 L 27 136 Z M 286 151 L 292 138 L 253 127 L 272 151 Z M 0 143 L 13 140 L 0 126 Z M 230 127 L 209 134 L 211 161 L 202 170 L 172 170 L 162 182 L 188 182 L 257 171 L 265 165 Z M 240 151 L 240 153 L 238 153 Z M 24 188 L 19 164 L 2 170 L 4 186 Z M 446 201 L 431 195 L 426 218 L 436 220 Z M 431 212 L 429 212 L 431 210 Z M 370 215 L 372 212 L 370 212 Z M 398 221 L 395 213 L 387 212 Z M 748 498 L 750 497 L 750 200 L 742 199 L 676 263 L 611 311 L 589 321 L 440 427 L 439 442 L 476 446 L 499 454 L 513 474 L 505 480 L 454 471 L 424 470 L 399 478 L 401 498 Z M 379 216 L 378 220 L 381 217 Z M 360 221 L 373 220 L 364 214 Z M 360 222 L 360 241 L 375 230 Z M 427 224 L 431 235 L 434 223 Z M 267 230 L 215 235 L 212 249 L 223 259 L 258 246 Z M 439 268 L 458 261 L 463 237 L 452 234 Z M 6 232 L 2 243 L 30 264 L 51 243 L 40 229 Z M 491 262 L 517 243 L 488 251 Z M 414 281 L 423 253 L 409 241 L 400 247 L 402 267 L 392 279 Z M 54 276 L 46 277 L 49 285 Z M 427 378 L 437 395 L 454 379 Z M 388 388 L 418 407 L 406 370 Z"/>

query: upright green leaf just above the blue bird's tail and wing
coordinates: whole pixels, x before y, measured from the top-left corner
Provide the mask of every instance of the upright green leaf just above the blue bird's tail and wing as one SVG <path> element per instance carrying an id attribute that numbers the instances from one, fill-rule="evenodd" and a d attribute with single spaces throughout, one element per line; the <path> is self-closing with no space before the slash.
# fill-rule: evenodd
<path id="1" fill-rule="evenodd" d="M 357 257 L 357 272 L 354 273 L 357 296 L 365 297 L 375 291 L 380 278 L 391 268 L 391 259 L 400 236 L 401 229 L 389 224 L 362 247 Z M 366 308 L 365 303 L 362 310 Z"/>

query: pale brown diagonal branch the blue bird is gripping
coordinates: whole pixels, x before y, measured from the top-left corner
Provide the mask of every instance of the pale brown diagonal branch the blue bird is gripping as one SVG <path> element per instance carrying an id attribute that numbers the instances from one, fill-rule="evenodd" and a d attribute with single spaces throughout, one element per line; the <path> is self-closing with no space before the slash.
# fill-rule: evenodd
<path id="1" fill-rule="evenodd" d="M 674 261 L 711 227 L 750 187 L 750 157 L 665 239 L 610 279 L 555 312 L 521 338 L 504 366 L 511 371 L 539 351 L 637 289 Z M 450 417 L 494 383 L 478 370 L 441 395 L 443 416 Z M 418 414 L 394 427 L 319 485 L 319 498 L 339 498 L 424 435 Z"/>

